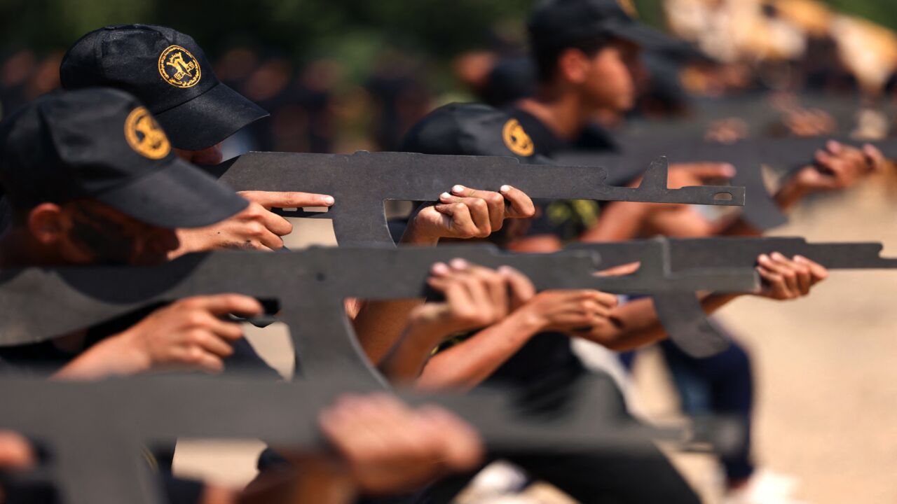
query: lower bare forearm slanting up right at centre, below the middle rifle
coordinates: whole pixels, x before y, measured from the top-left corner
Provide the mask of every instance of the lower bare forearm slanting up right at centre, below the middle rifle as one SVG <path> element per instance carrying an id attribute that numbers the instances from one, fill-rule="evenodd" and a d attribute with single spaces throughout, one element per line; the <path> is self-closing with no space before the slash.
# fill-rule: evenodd
<path id="1" fill-rule="evenodd" d="M 476 387 L 540 330 L 541 326 L 532 317 L 518 310 L 463 343 L 434 355 L 418 378 L 417 387 L 428 390 Z"/>

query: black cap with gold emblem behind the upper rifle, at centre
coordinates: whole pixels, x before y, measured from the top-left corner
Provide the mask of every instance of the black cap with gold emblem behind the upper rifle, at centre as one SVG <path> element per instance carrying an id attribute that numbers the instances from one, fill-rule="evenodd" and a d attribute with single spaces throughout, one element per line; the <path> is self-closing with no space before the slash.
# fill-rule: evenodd
<path id="1" fill-rule="evenodd" d="M 536 146 L 518 120 L 481 103 L 450 103 L 433 110 L 408 131 L 402 151 L 536 162 Z"/>

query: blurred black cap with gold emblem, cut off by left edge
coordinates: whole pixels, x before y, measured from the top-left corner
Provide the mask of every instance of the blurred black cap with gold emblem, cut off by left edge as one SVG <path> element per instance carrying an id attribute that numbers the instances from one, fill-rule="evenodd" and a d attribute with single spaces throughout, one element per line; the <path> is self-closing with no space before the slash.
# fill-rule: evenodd
<path id="1" fill-rule="evenodd" d="M 109 88 L 57 91 L 0 123 L 0 186 L 13 207 L 91 199 L 163 228 L 197 228 L 248 202 L 180 160 L 152 114 Z"/>

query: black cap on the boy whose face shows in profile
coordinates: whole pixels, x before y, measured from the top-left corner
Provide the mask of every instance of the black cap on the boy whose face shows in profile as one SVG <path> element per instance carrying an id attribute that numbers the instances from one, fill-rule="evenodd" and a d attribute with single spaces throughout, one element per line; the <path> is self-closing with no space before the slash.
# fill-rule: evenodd
<path id="1" fill-rule="evenodd" d="M 680 44 L 637 22 L 621 0 L 543 0 L 536 4 L 527 26 L 536 48 L 563 48 L 602 37 L 628 40 L 646 49 Z"/>

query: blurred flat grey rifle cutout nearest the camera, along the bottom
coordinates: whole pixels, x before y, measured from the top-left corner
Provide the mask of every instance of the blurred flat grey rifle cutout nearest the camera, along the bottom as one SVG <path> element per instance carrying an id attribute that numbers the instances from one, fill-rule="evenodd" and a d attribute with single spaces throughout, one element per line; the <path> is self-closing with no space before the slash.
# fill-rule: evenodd
<path id="1" fill-rule="evenodd" d="M 335 397 L 364 393 L 349 373 L 331 369 L 316 380 L 273 383 L 248 377 L 124 378 L 62 383 L 0 379 L 0 428 L 21 432 L 48 451 L 48 464 L 31 474 L 7 475 L 7 491 L 56 483 L 65 504 L 161 504 L 142 447 L 179 437 L 263 439 L 298 453 L 323 454 L 318 413 Z M 375 387 L 376 388 L 376 387 Z M 685 428 L 658 429 L 623 415 L 608 380 L 584 380 L 570 409 L 553 418 L 518 410 L 509 395 L 404 395 L 406 401 L 441 404 L 466 419 L 492 453 L 623 451 L 649 453 L 652 440 L 682 448 L 736 449 L 742 427 L 704 420 Z"/>

